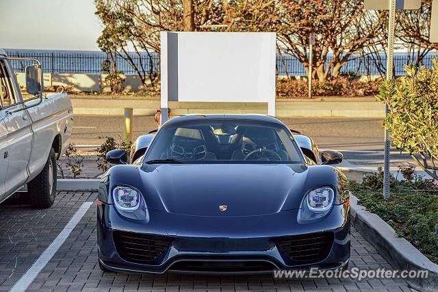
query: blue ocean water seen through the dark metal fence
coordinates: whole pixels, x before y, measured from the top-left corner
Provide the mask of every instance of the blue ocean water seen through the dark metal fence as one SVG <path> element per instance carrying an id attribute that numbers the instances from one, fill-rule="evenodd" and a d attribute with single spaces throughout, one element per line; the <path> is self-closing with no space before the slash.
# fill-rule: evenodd
<path id="1" fill-rule="evenodd" d="M 44 72 L 51 73 L 82 73 L 82 74 L 101 74 L 105 73 L 102 65 L 105 61 L 110 61 L 110 56 L 101 51 L 48 51 L 48 50 L 26 50 L 26 49 L 5 49 L 10 57 L 36 58 L 40 60 Z M 423 59 L 422 65 L 432 66 L 432 59 L 436 53 L 429 53 Z M 137 56 L 134 53 L 129 55 L 131 62 L 137 66 L 142 75 L 149 74 L 151 71 L 159 71 L 159 55 L 153 53 L 151 57 L 147 53 Z M 380 60 L 379 60 L 380 59 Z M 283 62 L 284 60 L 284 62 Z M 329 56 L 328 62 L 330 62 Z M 376 60 L 378 60 L 376 62 Z M 407 53 L 394 54 L 394 67 L 396 76 L 404 75 L 404 65 L 408 64 Z M 411 60 L 413 62 L 413 60 Z M 13 60 L 12 66 L 15 71 L 23 72 L 25 66 L 30 62 Z M 279 75 L 305 76 L 305 66 L 291 56 L 280 55 L 276 58 L 276 66 Z M 347 64 L 342 67 L 341 73 L 345 75 L 383 75 L 386 68 L 386 56 L 381 53 L 378 58 L 372 56 L 352 56 Z M 126 75 L 135 75 L 136 70 L 129 65 L 127 60 L 116 58 L 116 69 Z M 212 68 L 211 70 L 214 70 Z"/>

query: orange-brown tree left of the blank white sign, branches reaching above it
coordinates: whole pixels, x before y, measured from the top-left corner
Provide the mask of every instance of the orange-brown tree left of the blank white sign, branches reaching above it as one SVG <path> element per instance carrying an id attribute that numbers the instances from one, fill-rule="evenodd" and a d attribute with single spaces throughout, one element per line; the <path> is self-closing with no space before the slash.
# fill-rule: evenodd
<path id="1" fill-rule="evenodd" d="M 99 48 L 128 62 L 144 85 L 147 77 L 152 85 L 158 77 L 152 60 L 160 52 L 159 32 L 193 31 L 196 27 L 206 30 L 203 25 L 223 23 L 220 0 L 94 0 L 94 3 L 103 24 Z M 148 56 L 146 61 L 142 58 L 144 53 Z"/>

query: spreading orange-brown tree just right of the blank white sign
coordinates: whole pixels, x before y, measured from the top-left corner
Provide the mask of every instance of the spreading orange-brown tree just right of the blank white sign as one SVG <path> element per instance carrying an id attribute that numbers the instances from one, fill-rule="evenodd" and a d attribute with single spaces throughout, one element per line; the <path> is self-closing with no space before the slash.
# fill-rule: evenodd
<path id="1" fill-rule="evenodd" d="M 279 0 L 277 11 L 280 47 L 300 60 L 307 73 L 306 48 L 309 34 L 315 34 L 312 74 L 320 81 L 339 76 L 352 56 L 382 42 L 384 13 L 365 10 L 363 0 Z"/>

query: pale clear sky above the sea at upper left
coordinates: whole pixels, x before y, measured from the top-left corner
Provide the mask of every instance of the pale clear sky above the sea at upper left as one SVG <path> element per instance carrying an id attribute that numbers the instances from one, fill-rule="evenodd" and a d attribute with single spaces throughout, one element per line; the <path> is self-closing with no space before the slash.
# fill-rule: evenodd
<path id="1" fill-rule="evenodd" d="M 0 48 L 99 51 L 94 0 L 0 0 Z"/>

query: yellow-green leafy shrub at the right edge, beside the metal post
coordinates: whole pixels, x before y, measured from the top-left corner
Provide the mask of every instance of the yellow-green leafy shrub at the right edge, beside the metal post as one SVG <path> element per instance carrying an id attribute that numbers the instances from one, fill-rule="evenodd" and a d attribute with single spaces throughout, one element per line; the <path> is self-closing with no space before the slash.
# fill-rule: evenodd
<path id="1" fill-rule="evenodd" d="M 405 66 L 406 75 L 396 84 L 383 82 L 378 101 L 389 106 L 383 125 L 393 144 L 411 154 L 426 173 L 438 180 L 438 63 L 417 70 Z"/>

